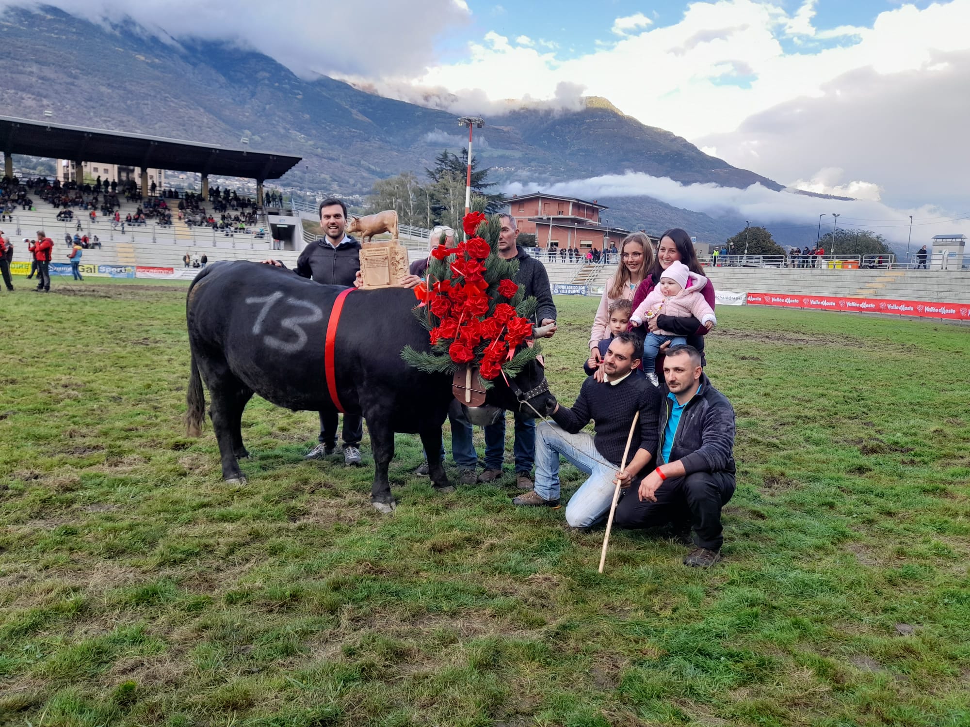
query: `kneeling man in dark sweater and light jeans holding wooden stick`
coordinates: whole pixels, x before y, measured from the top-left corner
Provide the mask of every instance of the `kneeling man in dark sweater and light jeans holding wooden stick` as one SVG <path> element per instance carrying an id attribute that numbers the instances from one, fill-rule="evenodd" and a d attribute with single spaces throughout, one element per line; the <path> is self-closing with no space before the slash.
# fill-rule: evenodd
<path id="1" fill-rule="evenodd" d="M 566 505 L 566 522 L 588 527 L 610 507 L 615 482 L 630 487 L 640 470 L 654 457 L 661 408 L 660 390 L 639 376 L 632 376 L 640 364 L 640 339 L 632 333 L 613 338 L 603 356 L 605 381 L 590 376 L 583 382 L 576 403 L 569 409 L 559 404 L 552 413 L 556 424 L 544 422 L 536 428 L 535 488 L 516 497 L 516 505 L 559 505 L 560 455 L 590 475 Z M 630 441 L 630 456 L 620 469 L 633 416 L 640 419 Z M 594 434 L 580 431 L 590 420 Z"/>

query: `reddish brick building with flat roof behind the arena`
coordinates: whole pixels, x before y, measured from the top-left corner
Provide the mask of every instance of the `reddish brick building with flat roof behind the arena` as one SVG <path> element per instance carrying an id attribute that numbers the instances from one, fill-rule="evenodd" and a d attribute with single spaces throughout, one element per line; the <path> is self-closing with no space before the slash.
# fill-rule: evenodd
<path id="1" fill-rule="evenodd" d="M 571 197 L 534 192 L 513 196 L 509 214 L 519 232 L 534 235 L 539 247 L 578 247 L 586 250 L 608 249 L 630 235 L 630 230 L 603 225 L 599 214 L 606 205 Z"/>

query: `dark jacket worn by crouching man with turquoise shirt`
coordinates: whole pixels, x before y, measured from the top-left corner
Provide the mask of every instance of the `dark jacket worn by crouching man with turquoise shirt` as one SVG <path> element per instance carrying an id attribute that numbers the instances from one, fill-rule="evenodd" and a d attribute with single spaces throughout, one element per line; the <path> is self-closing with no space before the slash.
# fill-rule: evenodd
<path id="1" fill-rule="evenodd" d="M 734 474 L 734 408 L 711 385 L 707 374 L 700 375 L 700 392 L 692 398 L 680 415 L 680 423 L 673 437 L 669 461 L 678 459 L 687 474 L 693 472 L 727 472 Z M 663 396 L 657 460 L 663 462 L 663 434 L 673 402 Z"/>

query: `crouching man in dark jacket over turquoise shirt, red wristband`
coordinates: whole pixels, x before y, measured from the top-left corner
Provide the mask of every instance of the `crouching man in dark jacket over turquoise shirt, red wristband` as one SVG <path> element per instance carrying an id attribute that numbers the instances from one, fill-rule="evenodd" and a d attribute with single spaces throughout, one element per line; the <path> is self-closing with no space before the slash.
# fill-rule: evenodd
<path id="1" fill-rule="evenodd" d="M 721 558 L 721 508 L 734 494 L 734 409 L 704 375 L 693 346 L 674 346 L 663 359 L 669 393 L 661 407 L 657 468 L 617 505 L 617 527 L 672 522 L 694 529 L 696 549 L 684 564 L 706 568 Z"/>

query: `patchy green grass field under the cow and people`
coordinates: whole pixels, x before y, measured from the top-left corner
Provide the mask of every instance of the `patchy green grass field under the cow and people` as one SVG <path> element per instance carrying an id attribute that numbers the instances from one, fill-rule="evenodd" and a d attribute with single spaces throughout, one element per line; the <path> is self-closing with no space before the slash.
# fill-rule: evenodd
<path id="1" fill-rule="evenodd" d="M 262 400 L 227 487 L 180 424 L 184 286 L 16 284 L 0 724 L 970 724 L 966 328 L 719 309 L 725 560 L 617 532 L 600 576 L 602 531 L 512 507 L 510 472 L 439 495 L 399 435 L 380 516 L 367 440 L 365 468 L 304 461 L 315 416 Z M 557 303 L 570 403 L 596 301 Z"/>

